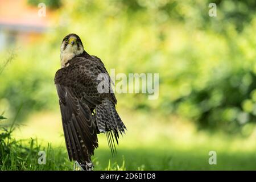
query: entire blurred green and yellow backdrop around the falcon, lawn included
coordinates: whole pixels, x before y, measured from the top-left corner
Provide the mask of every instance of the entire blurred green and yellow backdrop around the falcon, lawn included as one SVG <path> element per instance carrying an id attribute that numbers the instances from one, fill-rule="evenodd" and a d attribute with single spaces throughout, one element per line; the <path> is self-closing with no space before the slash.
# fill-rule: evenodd
<path id="1" fill-rule="evenodd" d="M 0 0 L 0 126 L 15 121 L 12 139 L 28 149 L 36 139 L 49 156 L 31 167 L 9 148 L 2 156 L 20 161 L 2 157 L 1 169 L 73 169 L 53 83 L 71 32 L 108 71 L 159 73 L 158 100 L 116 94 L 128 131 L 114 157 L 100 135 L 96 169 L 256 169 L 255 10 L 254 0 Z"/>

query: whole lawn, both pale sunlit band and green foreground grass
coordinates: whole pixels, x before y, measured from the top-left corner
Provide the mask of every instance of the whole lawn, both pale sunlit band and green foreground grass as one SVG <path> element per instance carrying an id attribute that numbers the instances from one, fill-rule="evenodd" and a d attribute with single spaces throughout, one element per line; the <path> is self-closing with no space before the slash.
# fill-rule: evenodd
<path id="1" fill-rule="evenodd" d="M 38 113 L 32 116 L 31 120 L 28 119 L 26 126 L 15 130 L 2 128 L 0 169 L 73 170 L 73 162 L 68 160 L 63 136 L 60 135 L 61 124 L 53 122 L 59 121 L 55 117 L 59 117 L 59 114 Z M 162 118 L 162 122 L 155 122 L 159 119 L 158 115 L 127 113 L 122 117 L 127 121 L 128 132 L 120 139 L 117 155 L 112 157 L 105 136 L 100 135 L 100 146 L 92 158 L 95 170 L 256 169 L 256 130 L 250 137 L 242 138 L 221 133 L 199 132 L 191 122 L 178 121 L 179 119 L 175 118 Z M 35 118 L 38 118 L 36 122 Z M 127 118 L 130 118 L 130 122 Z M 133 118 L 137 118 L 136 125 Z M 50 123 L 52 130 L 49 126 L 48 130 L 44 130 L 42 122 L 46 128 Z M 150 125 L 146 126 L 145 123 Z M 43 130 L 44 135 L 40 135 L 37 127 Z M 19 132 L 22 131 L 20 137 Z M 31 131 L 35 131 L 39 139 L 28 137 L 33 136 Z M 48 135 L 45 135 L 46 131 Z M 52 144 L 49 144 L 49 141 Z M 45 165 L 38 164 L 38 152 L 42 150 L 46 152 Z M 217 152 L 217 165 L 208 163 L 208 154 L 212 150 Z"/>

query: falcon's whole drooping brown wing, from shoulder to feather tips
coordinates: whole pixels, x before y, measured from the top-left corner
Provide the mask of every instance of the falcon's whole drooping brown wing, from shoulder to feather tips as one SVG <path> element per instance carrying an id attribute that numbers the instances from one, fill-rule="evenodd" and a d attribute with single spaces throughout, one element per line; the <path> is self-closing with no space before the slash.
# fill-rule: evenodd
<path id="1" fill-rule="evenodd" d="M 96 125 L 90 108 L 101 104 L 104 96 L 97 92 L 97 78 L 94 78 L 93 72 L 85 69 L 86 66 L 69 65 L 59 69 L 55 75 L 70 160 L 89 160 L 94 148 L 98 147 Z"/>

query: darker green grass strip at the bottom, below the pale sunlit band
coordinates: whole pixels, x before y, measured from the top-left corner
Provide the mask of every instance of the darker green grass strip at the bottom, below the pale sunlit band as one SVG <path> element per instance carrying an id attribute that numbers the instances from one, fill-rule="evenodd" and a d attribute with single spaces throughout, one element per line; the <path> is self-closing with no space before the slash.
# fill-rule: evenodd
<path id="1" fill-rule="evenodd" d="M 23 144 L 22 144 L 23 143 Z M 15 141 L 11 139 L 1 148 L 1 170 L 73 170 L 73 163 L 67 159 L 65 148 L 40 146 L 36 140 Z M 209 165 L 207 149 L 157 150 L 156 148 L 136 148 L 118 150 L 112 158 L 109 150 L 96 150 L 93 162 L 95 170 L 252 170 L 256 169 L 255 152 L 217 153 L 217 165 Z M 38 164 L 38 151 L 46 151 L 46 165 Z"/>

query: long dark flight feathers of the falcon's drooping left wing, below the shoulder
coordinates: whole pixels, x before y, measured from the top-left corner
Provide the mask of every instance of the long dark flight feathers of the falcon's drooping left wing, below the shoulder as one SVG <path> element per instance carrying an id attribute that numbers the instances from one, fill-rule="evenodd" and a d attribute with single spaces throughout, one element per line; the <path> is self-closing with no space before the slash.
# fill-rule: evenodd
<path id="1" fill-rule="evenodd" d="M 98 147 L 96 126 L 88 105 L 79 100 L 72 89 L 56 84 L 65 143 L 70 160 L 90 160 Z"/>

